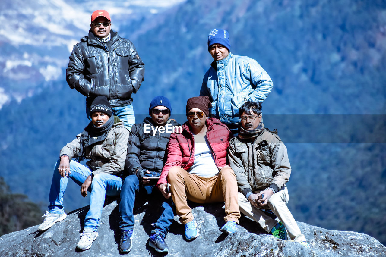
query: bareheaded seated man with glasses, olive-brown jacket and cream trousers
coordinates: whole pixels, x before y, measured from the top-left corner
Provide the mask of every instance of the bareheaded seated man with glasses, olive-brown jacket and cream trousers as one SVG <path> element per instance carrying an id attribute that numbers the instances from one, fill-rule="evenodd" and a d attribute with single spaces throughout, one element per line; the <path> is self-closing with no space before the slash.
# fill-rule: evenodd
<path id="1" fill-rule="evenodd" d="M 260 103 L 247 101 L 239 115 L 239 135 L 229 142 L 228 158 L 239 186 L 240 211 L 275 237 L 286 239 L 288 232 L 291 240 L 310 248 L 287 207 L 291 166 L 286 146 L 264 128 Z"/>

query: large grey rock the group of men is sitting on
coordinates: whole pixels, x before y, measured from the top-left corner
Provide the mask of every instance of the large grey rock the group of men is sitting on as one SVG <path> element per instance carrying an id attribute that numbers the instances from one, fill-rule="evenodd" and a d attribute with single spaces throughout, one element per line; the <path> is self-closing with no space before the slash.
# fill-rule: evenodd
<path id="1" fill-rule="evenodd" d="M 163 256 L 147 244 L 154 212 L 157 206 L 146 203 L 135 208 L 135 236 L 133 248 L 128 255 Z M 110 200 L 103 208 L 99 236 L 89 250 L 79 251 L 76 243 L 83 227 L 88 206 L 72 211 L 68 217 L 45 232 L 37 226 L 0 237 L 0 256 L 120 256 L 118 242 L 119 211 L 116 201 Z M 168 256 L 386 256 L 386 247 L 369 235 L 333 231 L 298 222 L 311 249 L 296 242 L 278 240 L 267 235 L 254 221 L 240 218 L 237 233 L 223 235 L 219 228 L 224 224 L 223 205 L 195 206 L 193 214 L 198 222 L 200 236 L 188 242 L 184 239 L 184 226 L 174 217 L 166 238 Z"/>

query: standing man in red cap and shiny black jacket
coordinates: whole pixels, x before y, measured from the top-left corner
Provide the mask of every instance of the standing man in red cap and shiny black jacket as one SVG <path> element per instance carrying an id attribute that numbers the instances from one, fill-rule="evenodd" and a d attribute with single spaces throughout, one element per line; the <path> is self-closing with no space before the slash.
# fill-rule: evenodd
<path id="1" fill-rule="evenodd" d="M 144 80 L 144 63 L 134 44 L 111 29 L 105 10 L 91 14 L 88 36 L 82 37 L 69 57 L 66 79 L 86 98 L 86 113 L 97 96 L 106 96 L 116 115 L 129 129 L 135 123 L 131 94 Z"/>

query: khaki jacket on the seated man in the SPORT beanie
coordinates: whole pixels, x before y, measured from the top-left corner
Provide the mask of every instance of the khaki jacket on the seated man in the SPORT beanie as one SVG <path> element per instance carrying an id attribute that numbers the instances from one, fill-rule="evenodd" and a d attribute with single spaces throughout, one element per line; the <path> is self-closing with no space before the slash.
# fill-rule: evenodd
<path id="1" fill-rule="evenodd" d="M 86 164 L 93 170 L 93 175 L 98 173 L 120 175 L 124 169 L 129 130 L 123 124 L 122 121 L 115 123 L 103 142 L 86 148 L 86 159 L 90 159 Z M 80 135 L 62 148 L 60 156 L 67 154 L 70 160 L 78 156 Z"/>

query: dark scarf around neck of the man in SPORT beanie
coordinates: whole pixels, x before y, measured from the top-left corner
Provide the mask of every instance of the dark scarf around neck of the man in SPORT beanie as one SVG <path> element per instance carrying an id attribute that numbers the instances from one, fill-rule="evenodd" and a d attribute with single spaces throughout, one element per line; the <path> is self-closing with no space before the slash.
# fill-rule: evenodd
<path id="1" fill-rule="evenodd" d="M 113 125 L 113 115 L 107 120 L 105 124 L 100 127 L 95 126 L 92 121 L 88 123 L 88 125 L 85 127 L 85 130 L 83 130 L 82 134 L 80 135 L 80 151 L 76 161 L 81 162 L 85 159 L 87 147 L 98 142 L 103 142 Z"/>

